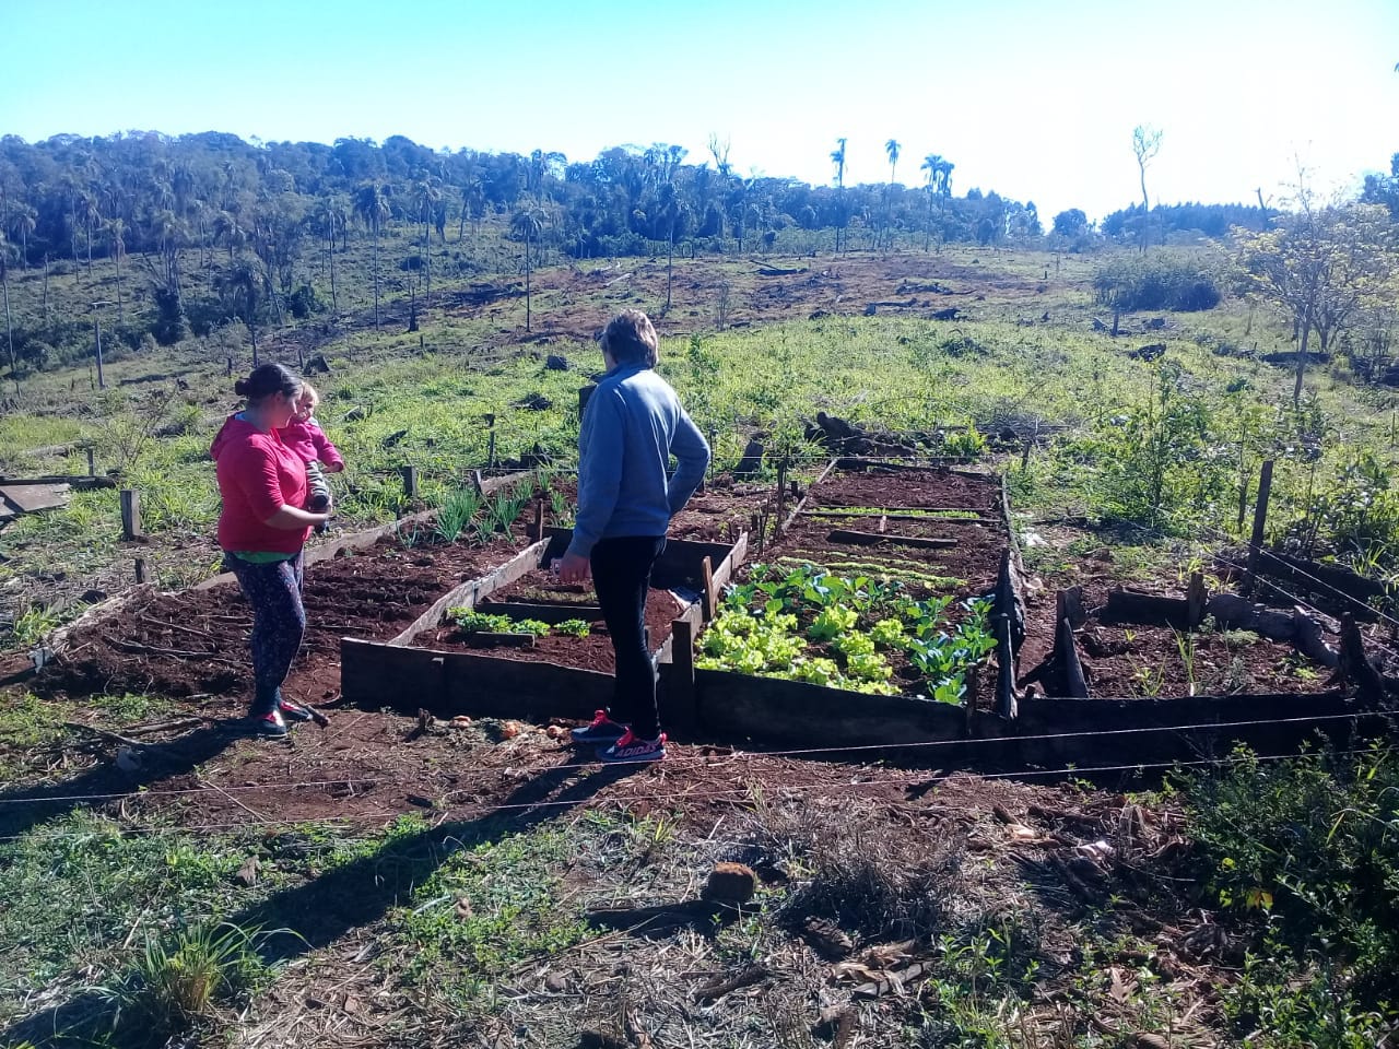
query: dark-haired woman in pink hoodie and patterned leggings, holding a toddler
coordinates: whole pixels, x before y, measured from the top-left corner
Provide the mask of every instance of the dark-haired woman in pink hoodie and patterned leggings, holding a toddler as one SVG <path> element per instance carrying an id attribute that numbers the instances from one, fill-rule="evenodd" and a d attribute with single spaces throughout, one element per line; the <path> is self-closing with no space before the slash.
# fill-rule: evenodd
<path id="1" fill-rule="evenodd" d="M 224 506 L 218 545 L 224 568 L 238 576 L 253 608 L 253 701 L 249 722 L 260 736 L 285 736 L 287 718 L 312 713 L 281 694 L 306 629 L 301 603 L 301 550 L 311 529 L 329 513 L 306 505 L 306 463 L 278 435 L 301 396 L 301 379 L 280 364 L 264 364 L 239 379 L 234 392 L 248 407 L 224 422 L 210 455 Z"/>

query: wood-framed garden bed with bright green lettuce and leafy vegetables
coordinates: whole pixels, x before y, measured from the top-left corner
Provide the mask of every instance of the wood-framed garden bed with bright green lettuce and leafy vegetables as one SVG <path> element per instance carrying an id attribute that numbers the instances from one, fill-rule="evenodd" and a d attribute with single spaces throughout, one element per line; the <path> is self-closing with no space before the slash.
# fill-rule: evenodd
<path id="1" fill-rule="evenodd" d="M 810 745 L 964 734 L 993 695 L 1003 505 L 989 476 L 828 470 L 701 638 L 695 720 Z"/>

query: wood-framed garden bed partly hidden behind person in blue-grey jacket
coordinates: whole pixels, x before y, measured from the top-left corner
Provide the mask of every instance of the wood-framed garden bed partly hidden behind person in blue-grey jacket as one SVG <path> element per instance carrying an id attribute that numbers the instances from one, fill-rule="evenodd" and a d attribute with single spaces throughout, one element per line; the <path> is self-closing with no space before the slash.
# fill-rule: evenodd
<path id="1" fill-rule="evenodd" d="M 436 715 L 586 718 L 613 692 L 611 641 L 590 590 L 548 571 L 572 537 L 553 529 L 494 572 L 464 583 L 386 642 L 344 638 L 347 702 L 397 702 Z M 655 660 L 669 659 L 677 622 L 693 629 L 746 551 L 669 540 L 646 606 Z"/>

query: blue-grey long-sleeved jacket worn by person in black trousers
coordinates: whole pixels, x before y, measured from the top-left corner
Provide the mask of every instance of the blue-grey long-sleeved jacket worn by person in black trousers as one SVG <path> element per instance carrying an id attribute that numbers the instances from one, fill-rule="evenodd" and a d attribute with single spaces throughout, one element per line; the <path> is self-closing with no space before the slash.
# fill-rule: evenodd
<path id="1" fill-rule="evenodd" d="M 620 364 L 597 383 L 578 435 L 578 519 L 568 552 L 600 538 L 665 536 L 709 466 L 704 434 L 655 371 Z M 670 456 L 679 466 L 670 476 Z"/>

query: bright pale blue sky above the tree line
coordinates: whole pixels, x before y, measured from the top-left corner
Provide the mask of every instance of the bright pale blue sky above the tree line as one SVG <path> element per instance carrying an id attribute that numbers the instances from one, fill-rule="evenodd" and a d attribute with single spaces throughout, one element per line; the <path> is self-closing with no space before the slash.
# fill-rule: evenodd
<path id="1" fill-rule="evenodd" d="M 741 172 L 901 182 L 1098 217 L 1323 190 L 1399 151 L 1399 0 L 0 0 L 0 134 L 154 129 L 589 159 L 711 133 Z"/>

